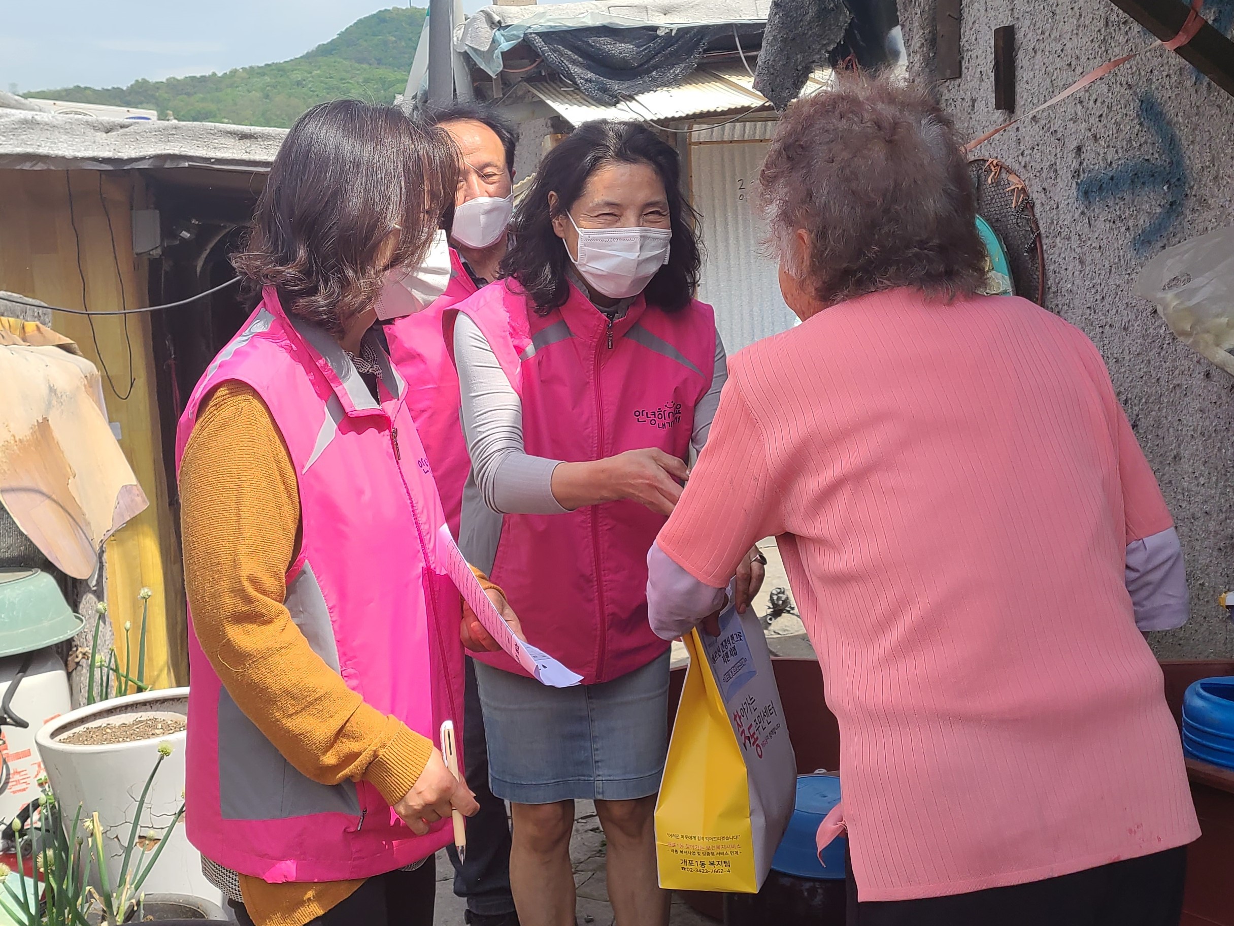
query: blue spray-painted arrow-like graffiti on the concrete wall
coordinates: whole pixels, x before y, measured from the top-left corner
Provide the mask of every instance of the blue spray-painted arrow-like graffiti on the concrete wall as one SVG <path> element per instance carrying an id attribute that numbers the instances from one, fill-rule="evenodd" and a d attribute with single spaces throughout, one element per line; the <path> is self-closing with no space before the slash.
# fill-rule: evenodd
<path id="1" fill-rule="evenodd" d="M 1106 170 L 1095 170 L 1076 185 L 1080 201 L 1087 205 L 1138 194 L 1165 196 L 1153 220 L 1132 240 L 1137 254 L 1146 254 L 1182 215 L 1190 178 L 1182 142 L 1165 110 L 1151 91 L 1140 96 L 1140 125 L 1153 136 L 1156 152 L 1146 158 L 1129 158 Z"/>

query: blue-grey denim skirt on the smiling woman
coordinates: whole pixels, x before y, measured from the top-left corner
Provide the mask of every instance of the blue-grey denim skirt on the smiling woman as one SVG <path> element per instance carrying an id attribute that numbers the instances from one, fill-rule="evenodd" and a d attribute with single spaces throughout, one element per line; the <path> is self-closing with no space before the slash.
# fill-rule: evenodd
<path id="1" fill-rule="evenodd" d="M 476 661 L 489 786 L 516 804 L 633 800 L 660 789 L 669 653 L 597 685 L 549 688 Z"/>

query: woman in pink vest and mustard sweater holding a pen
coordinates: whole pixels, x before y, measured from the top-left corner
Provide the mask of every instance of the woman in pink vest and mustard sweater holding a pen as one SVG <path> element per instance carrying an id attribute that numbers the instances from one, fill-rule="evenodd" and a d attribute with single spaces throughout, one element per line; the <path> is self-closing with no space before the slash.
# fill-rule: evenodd
<path id="1" fill-rule="evenodd" d="M 260 301 L 180 420 L 186 825 L 242 922 L 431 924 L 432 856 L 475 810 L 434 748 L 463 721 L 445 515 L 370 331 L 455 167 L 395 107 L 305 114 L 233 258 Z"/>

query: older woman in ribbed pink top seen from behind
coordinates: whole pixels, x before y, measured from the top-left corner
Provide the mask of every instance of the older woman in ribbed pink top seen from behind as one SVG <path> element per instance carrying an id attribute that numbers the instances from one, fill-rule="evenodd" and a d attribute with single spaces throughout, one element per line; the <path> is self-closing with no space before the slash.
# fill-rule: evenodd
<path id="1" fill-rule="evenodd" d="M 1176 924 L 1199 831 L 1140 630 L 1186 620 L 1186 582 L 1101 354 L 976 295 L 960 142 L 919 89 L 797 101 L 760 185 L 802 325 L 729 359 L 653 627 L 777 537 L 840 725 L 850 926 Z"/>

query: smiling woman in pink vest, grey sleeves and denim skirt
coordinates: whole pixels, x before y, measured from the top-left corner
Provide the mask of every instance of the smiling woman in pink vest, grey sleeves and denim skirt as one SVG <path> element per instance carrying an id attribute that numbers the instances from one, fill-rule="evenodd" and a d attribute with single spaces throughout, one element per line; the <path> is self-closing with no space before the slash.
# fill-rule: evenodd
<path id="1" fill-rule="evenodd" d="M 668 922 L 652 817 L 669 647 L 647 624 L 645 557 L 726 375 L 712 310 L 692 298 L 680 189 L 677 156 L 650 130 L 582 126 L 542 162 L 506 279 L 458 306 L 460 543 L 506 583 L 528 641 L 582 675 L 552 689 L 500 654 L 476 659 L 523 926 L 574 924 L 576 799 L 596 803 L 617 922 Z"/>

